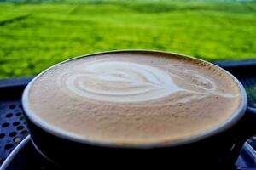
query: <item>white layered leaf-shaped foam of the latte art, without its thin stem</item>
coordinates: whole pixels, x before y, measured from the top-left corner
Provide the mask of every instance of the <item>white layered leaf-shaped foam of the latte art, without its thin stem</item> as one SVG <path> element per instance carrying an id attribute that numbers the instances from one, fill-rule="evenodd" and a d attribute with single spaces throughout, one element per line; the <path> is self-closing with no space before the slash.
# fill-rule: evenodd
<path id="1" fill-rule="evenodd" d="M 182 90 L 166 71 L 148 65 L 100 61 L 82 65 L 77 70 L 78 73 L 60 80 L 73 94 L 89 99 L 139 102 L 163 98 Z"/>

